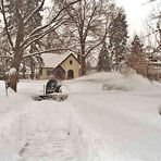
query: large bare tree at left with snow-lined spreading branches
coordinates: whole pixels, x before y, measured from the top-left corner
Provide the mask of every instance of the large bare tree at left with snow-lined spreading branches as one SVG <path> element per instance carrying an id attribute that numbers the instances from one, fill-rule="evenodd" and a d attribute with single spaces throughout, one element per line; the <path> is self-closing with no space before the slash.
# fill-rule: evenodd
<path id="1" fill-rule="evenodd" d="M 72 1 L 65 4 L 62 9 L 57 10 L 55 14 L 49 22 L 47 22 L 45 25 L 30 28 L 32 30 L 29 33 L 26 32 L 26 27 L 28 25 L 32 25 L 30 20 L 34 17 L 35 14 L 37 14 L 39 11 L 44 11 L 45 0 L 41 0 L 39 3 L 37 3 L 37 7 L 29 14 L 27 14 L 27 11 L 24 10 L 25 2 L 29 3 L 29 0 L 10 1 L 12 3 L 12 8 L 9 8 L 8 5 L 9 0 L 0 1 L 0 11 L 4 22 L 3 32 L 5 33 L 10 45 L 9 51 L 10 53 L 12 53 L 13 57 L 11 70 L 9 72 L 10 75 L 8 76 L 8 86 L 11 87 L 14 91 L 16 91 L 17 74 L 23 58 L 58 50 L 58 48 L 49 49 L 48 51 L 42 51 L 42 49 L 40 49 L 40 51 L 29 53 L 28 48 L 36 41 L 42 39 L 48 33 L 59 28 L 64 22 L 66 22 L 64 14 L 62 14 L 63 11 L 78 1 L 81 0 Z M 12 26 L 12 22 L 16 22 L 15 26 Z"/>

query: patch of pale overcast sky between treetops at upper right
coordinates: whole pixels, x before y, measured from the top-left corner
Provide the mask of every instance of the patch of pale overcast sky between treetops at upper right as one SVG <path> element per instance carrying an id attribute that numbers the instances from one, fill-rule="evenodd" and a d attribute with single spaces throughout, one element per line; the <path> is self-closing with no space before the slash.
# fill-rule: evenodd
<path id="1" fill-rule="evenodd" d="M 117 5 L 125 9 L 131 35 L 140 34 L 146 29 L 146 18 L 150 13 L 148 0 L 115 0 Z"/>

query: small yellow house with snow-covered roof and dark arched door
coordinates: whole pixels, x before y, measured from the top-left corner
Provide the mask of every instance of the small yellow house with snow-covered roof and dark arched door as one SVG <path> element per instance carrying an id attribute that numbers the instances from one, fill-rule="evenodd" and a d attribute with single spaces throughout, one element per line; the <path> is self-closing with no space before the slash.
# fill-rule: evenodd
<path id="1" fill-rule="evenodd" d="M 79 76 L 79 62 L 71 54 L 44 53 L 44 67 L 40 79 L 48 79 L 54 74 L 58 79 L 71 79 Z"/>

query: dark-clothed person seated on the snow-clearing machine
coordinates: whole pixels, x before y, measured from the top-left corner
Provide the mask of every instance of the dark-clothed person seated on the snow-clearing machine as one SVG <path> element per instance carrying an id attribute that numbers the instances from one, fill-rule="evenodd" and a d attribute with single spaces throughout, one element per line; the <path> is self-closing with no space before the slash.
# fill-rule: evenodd
<path id="1" fill-rule="evenodd" d="M 61 92 L 62 85 L 58 84 L 58 81 L 55 79 L 54 75 L 50 76 L 50 79 L 48 81 L 46 85 L 46 94 L 52 94 L 52 92 Z"/>

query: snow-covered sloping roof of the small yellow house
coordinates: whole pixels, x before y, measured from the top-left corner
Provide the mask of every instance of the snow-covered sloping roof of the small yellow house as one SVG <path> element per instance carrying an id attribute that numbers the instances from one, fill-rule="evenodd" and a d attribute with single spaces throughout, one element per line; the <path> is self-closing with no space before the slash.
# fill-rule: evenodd
<path id="1" fill-rule="evenodd" d="M 58 54 L 58 53 L 44 53 L 41 58 L 44 59 L 44 67 L 57 67 L 64 59 L 66 59 L 70 53 Z"/>

